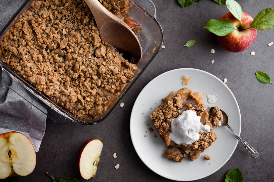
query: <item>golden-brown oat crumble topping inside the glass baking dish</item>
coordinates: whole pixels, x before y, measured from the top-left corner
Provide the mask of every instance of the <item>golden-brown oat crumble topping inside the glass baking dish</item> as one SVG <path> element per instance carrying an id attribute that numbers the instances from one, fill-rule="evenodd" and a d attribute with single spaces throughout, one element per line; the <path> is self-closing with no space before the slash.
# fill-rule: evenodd
<path id="1" fill-rule="evenodd" d="M 125 15 L 126 0 L 99 0 Z M 100 116 L 137 67 L 100 39 L 84 0 L 34 0 L 0 42 L 3 61 L 83 119 Z"/>

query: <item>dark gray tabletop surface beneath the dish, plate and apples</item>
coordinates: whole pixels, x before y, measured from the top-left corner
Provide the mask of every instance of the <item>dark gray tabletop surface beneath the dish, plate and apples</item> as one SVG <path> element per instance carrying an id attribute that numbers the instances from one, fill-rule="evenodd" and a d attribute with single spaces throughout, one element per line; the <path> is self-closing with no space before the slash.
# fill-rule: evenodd
<path id="1" fill-rule="evenodd" d="M 78 154 L 86 140 L 98 138 L 104 143 L 102 156 L 96 177 L 88 181 L 170 181 L 147 168 L 137 156 L 129 133 L 130 114 L 138 94 L 153 78 L 172 69 L 196 68 L 222 80 L 228 79 L 227 86 L 234 93 L 241 110 L 241 136 L 260 153 L 257 159 L 252 159 L 242 144 L 238 143 L 234 154 L 220 170 L 197 181 L 224 181 L 226 173 L 237 167 L 240 167 L 244 181 L 273 181 L 274 88 L 272 84 L 258 82 L 255 72 L 267 72 L 274 80 L 274 45 L 267 45 L 274 41 L 274 28 L 258 31 L 255 41 L 244 52 L 231 53 L 223 50 L 215 36 L 203 28 L 209 19 L 220 19 L 227 13 L 226 6 L 218 5 L 213 0 L 203 0 L 182 9 L 176 0 L 153 2 L 158 20 L 163 26 L 166 48 L 160 51 L 125 94 L 121 100 L 125 106 L 116 106 L 103 122 L 94 126 L 59 124 L 48 120 L 37 153 L 35 170 L 26 177 L 11 179 L 16 182 L 51 181 L 45 174 L 48 171 L 56 178 L 75 177 L 79 181 L 86 181 L 78 172 Z M 273 0 L 238 2 L 244 12 L 253 18 L 261 10 L 274 7 Z M 2 8 L 5 7 L 0 7 L 2 14 Z M 195 39 L 196 44 L 184 47 L 184 43 L 191 39 Z M 215 49 L 216 53 L 210 53 L 210 49 Z M 251 51 L 255 51 L 256 55 L 251 56 Z M 212 59 L 215 60 L 214 64 L 211 64 Z M 116 159 L 112 157 L 114 152 L 118 156 Z M 114 168 L 117 163 L 120 164 L 118 170 Z"/>

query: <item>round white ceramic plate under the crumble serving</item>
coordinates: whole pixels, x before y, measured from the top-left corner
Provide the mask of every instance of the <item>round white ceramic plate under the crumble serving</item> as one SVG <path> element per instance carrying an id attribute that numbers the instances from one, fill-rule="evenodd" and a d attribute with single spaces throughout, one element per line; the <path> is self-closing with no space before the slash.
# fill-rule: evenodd
<path id="1" fill-rule="evenodd" d="M 190 76 L 191 83 L 189 85 L 183 86 L 181 80 L 183 76 Z M 145 86 L 132 108 L 130 135 L 137 154 L 147 167 L 171 180 L 191 181 L 202 179 L 219 170 L 233 154 L 238 139 L 225 126 L 214 128 L 218 137 L 217 140 L 204 153 L 201 153 L 198 159 L 194 161 L 189 158 L 183 159 L 181 163 L 168 160 L 163 155 L 167 146 L 160 139 L 156 127 L 149 118 L 149 114 L 163 103 L 162 98 L 166 97 L 171 91 L 177 92 L 183 87 L 205 93 L 204 103 L 210 107 L 219 106 L 225 111 L 229 117 L 230 127 L 240 134 L 241 114 L 239 106 L 226 84 L 208 72 L 199 69 L 181 68 L 165 72 Z M 219 97 L 216 103 L 207 103 L 207 94 L 217 94 Z M 154 131 L 150 132 L 148 127 L 152 127 Z M 154 133 L 157 137 L 153 137 Z M 211 157 L 211 160 L 205 160 L 204 156 L 206 154 Z"/>

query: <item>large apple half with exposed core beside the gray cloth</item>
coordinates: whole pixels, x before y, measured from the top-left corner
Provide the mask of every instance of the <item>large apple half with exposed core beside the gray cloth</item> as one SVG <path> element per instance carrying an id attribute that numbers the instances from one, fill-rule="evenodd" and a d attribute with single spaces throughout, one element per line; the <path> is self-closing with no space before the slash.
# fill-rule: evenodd
<path id="1" fill-rule="evenodd" d="M 36 165 L 36 153 L 31 141 L 22 133 L 0 134 L 0 179 L 26 176 Z"/>

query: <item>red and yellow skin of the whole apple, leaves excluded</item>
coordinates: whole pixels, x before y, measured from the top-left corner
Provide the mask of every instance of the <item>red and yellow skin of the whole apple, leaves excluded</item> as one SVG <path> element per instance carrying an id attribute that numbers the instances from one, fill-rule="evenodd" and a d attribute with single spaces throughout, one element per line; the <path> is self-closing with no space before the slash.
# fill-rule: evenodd
<path id="1" fill-rule="evenodd" d="M 223 15 L 220 20 L 229 20 L 233 23 L 235 29 L 237 29 L 236 26 L 241 26 L 241 22 L 237 20 L 231 12 Z M 247 13 L 243 12 L 241 29 L 247 29 L 251 27 L 252 22 L 253 18 Z M 256 35 L 257 29 L 250 28 L 241 31 L 234 30 L 230 34 L 222 37 L 216 35 L 216 39 L 223 49 L 229 52 L 242 52 L 252 44 L 256 38 Z"/>

